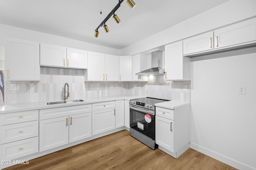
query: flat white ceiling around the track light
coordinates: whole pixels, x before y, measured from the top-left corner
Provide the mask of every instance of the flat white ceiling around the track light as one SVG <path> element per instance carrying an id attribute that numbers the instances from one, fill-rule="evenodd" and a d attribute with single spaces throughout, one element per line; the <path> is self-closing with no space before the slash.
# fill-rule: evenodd
<path id="1" fill-rule="evenodd" d="M 0 0 L 0 23 L 123 49 L 228 0 L 134 0 L 133 9 L 125 1 L 115 12 L 121 22 L 110 17 L 97 38 L 118 0 Z"/>

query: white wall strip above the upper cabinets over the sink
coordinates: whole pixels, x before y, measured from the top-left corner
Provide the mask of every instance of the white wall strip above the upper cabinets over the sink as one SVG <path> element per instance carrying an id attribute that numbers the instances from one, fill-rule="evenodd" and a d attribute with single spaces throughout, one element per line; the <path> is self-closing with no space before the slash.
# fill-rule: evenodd
<path id="1" fill-rule="evenodd" d="M 95 51 L 98 53 L 106 53 L 112 55 L 120 55 L 120 50 L 101 45 L 95 45 L 86 43 L 74 39 L 60 37 L 56 35 L 41 33 L 37 31 L 31 31 L 28 29 L 22 29 L 19 27 L 13 27 L 9 25 L 0 24 L 0 46 L 5 46 L 5 38 L 14 37 L 18 39 L 26 39 L 30 41 L 36 41 L 41 43 L 49 43 L 54 45 L 61 45 L 64 47 L 83 49 L 87 51 Z"/>

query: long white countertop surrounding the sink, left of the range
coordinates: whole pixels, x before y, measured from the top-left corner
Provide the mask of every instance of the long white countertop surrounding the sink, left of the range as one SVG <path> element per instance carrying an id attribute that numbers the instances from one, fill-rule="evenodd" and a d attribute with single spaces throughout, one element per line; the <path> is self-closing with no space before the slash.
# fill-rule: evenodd
<path id="1" fill-rule="evenodd" d="M 17 111 L 50 109 L 50 108 L 65 107 L 65 106 L 76 106 L 76 105 L 82 105 L 82 104 L 108 102 L 108 101 L 113 101 L 113 100 L 130 100 L 130 99 L 134 99 L 134 98 L 144 98 L 144 96 L 108 96 L 108 97 L 82 99 L 82 100 L 84 100 L 84 102 L 52 104 L 52 105 L 47 105 L 48 102 L 30 102 L 30 103 L 22 103 L 22 104 L 9 104 L 9 105 L 0 107 L 0 114 L 17 112 Z M 50 102 L 60 102 L 60 101 L 50 101 Z"/>

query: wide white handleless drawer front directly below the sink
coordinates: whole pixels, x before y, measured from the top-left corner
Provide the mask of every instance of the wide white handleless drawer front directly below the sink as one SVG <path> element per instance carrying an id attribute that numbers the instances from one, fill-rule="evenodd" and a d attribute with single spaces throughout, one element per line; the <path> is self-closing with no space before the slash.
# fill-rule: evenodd
<path id="1" fill-rule="evenodd" d="M 75 115 L 80 113 L 88 113 L 92 111 L 92 105 L 80 105 L 80 106 L 67 106 L 54 109 L 42 109 L 39 110 L 39 119 L 52 119 L 56 117 L 63 117 L 68 115 Z"/>

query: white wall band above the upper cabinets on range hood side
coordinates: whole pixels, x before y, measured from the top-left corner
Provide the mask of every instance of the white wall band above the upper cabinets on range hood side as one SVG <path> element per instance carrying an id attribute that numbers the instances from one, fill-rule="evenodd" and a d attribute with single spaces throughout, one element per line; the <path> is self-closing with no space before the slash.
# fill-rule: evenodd
<path id="1" fill-rule="evenodd" d="M 256 0 L 230 0 L 122 49 L 121 55 L 138 54 L 253 16 L 256 16 Z M 170 20 L 173 17 L 176 16 L 170 16 Z"/>

